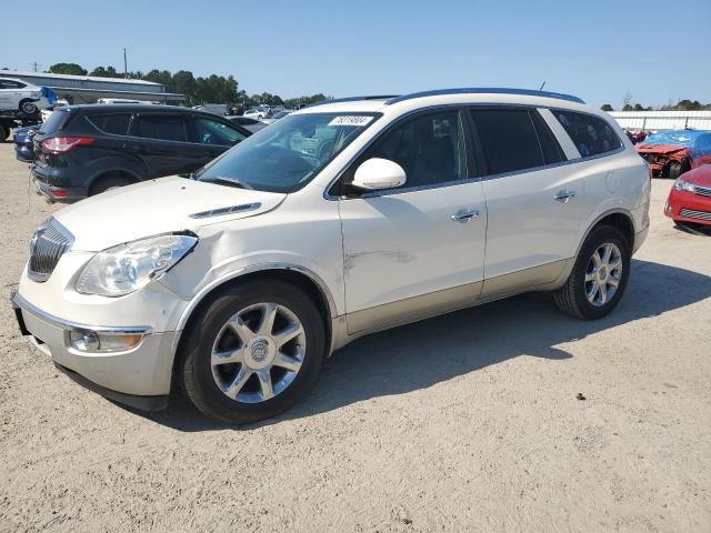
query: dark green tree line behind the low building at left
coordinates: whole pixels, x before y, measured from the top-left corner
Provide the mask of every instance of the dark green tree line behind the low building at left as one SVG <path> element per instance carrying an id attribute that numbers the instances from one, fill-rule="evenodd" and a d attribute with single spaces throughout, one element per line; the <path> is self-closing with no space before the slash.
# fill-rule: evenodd
<path id="1" fill-rule="evenodd" d="M 161 83 L 167 92 L 176 92 L 186 95 L 188 105 L 201 103 L 229 103 L 240 104 L 244 108 L 254 105 L 286 105 L 288 108 L 299 108 L 310 103 L 320 102 L 329 97 L 322 93 L 282 99 L 279 94 L 262 92 L 261 94 L 248 94 L 239 88 L 233 76 L 194 77 L 189 70 L 170 72 L 168 70 L 153 69 L 150 72 L 131 71 L 126 74 L 118 72 L 112 66 L 97 67 L 88 71 L 77 63 L 56 63 L 48 72 L 54 74 L 73 76 L 96 76 L 99 78 L 129 78 L 133 80 L 146 80 Z"/>

